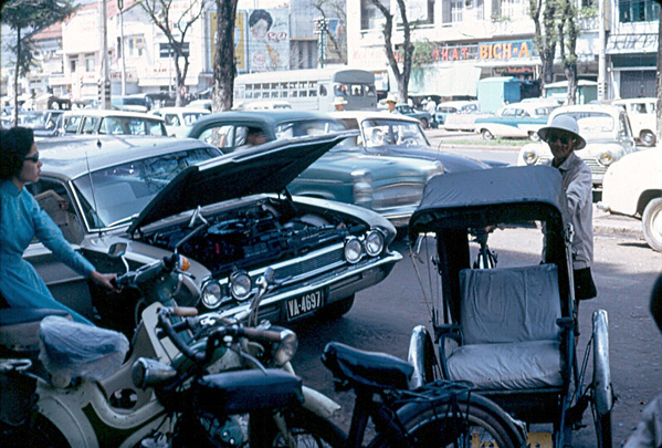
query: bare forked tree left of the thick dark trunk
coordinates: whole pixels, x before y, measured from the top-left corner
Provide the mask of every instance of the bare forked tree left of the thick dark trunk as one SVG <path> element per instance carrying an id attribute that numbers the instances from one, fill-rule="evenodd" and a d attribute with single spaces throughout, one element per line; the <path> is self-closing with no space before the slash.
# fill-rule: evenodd
<path id="1" fill-rule="evenodd" d="M 185 52 L 187 33 L 193 23 L 202 17 L 207 0 L 176 1 L 176 0 L 140 0 L 138 4 L 149 15 L 151 21 L 168 39 L 172 61 L 175 62 L 175 84 L 177 86 L 176 105 L 181 106 L 183 95 L 181 87 L 186 85 L 186 76 L 189 72 L 189 55 Z M 183 8 L 176 9 L 174 4 Z M 181 62 L 183 60 L 183 62 Z"/>

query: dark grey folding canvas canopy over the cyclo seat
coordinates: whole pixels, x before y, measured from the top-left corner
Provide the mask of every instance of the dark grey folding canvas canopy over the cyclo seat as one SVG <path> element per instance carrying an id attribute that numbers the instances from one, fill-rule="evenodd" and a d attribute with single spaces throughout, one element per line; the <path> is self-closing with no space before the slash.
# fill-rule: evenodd
<path id="1" fill-rule="evenodd" d="M 437 233 L 443 298 L 455 321 L 460 317 L 460 271 L 471 268 L 467 233 L 494 225 L 532 221 L 545 222 L 543 261 L 558 268 L 561 310 L 569 315 L 572 288 L 566 222 L 570 221 L 558 169 L 506 167 L 430 179 L 409 222 L 410 241 L 414 243 L 419 233 Z"/>

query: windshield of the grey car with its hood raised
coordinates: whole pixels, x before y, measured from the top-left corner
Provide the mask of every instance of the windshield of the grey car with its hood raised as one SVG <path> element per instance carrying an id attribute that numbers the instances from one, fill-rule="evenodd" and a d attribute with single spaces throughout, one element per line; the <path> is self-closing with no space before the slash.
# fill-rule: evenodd
<path id="1" fill-rule="evenodd" d="M 211 148 L 181 150 L 104 168 L 73 184 L 90 228 L 103 229 L 129 221 L 181 170 L 218 155 Z"/>

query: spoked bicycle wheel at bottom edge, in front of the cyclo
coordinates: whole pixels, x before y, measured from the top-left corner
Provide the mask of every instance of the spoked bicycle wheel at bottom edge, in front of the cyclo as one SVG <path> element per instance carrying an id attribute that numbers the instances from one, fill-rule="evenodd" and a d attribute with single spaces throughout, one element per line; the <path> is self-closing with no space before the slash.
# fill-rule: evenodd
<path id="1" fill-rule="evenodd" d="M 440 414 L 429 404 L 412 403 L 398 410 L 398 418 L 416 447 L 490 447 L 519 448 L 525 444 L 524 433 L 494 402 L 472 393 L 459 398 L 459 410 L 466 417 L 469 431 L 456 433 L 456 417 Z M 372 448 L 391 447 L 386 435 L 378 435 Z"/>

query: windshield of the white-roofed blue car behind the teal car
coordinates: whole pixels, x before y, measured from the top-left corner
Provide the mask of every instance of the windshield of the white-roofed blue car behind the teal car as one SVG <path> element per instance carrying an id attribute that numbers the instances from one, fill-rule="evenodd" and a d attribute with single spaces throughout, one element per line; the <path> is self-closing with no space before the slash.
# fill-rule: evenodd
<path id="1" fill-rule="evenodd" d="M 388 145 L 429 146 L 428 139 L 418 123 L 399 119 L 366 119 L 361 123 L 361 134 L 367 147 Z"/>

